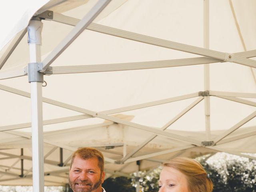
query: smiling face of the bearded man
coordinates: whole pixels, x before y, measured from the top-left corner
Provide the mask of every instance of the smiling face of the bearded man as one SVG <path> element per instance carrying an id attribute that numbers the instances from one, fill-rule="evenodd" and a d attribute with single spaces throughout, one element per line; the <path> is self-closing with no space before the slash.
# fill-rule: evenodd
<path id="1" fill-rule="evenodd" d="M 75 156 L 69 169 L 69 185 L 74 192 L 102 192 L 105 172 L 100 173 L 98 159 Z"/>

